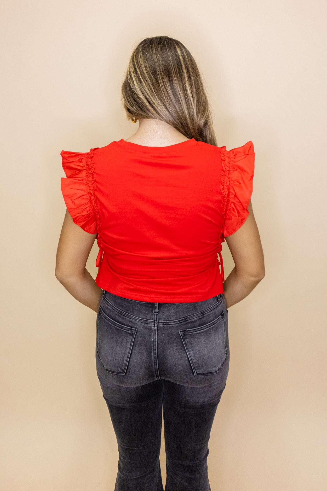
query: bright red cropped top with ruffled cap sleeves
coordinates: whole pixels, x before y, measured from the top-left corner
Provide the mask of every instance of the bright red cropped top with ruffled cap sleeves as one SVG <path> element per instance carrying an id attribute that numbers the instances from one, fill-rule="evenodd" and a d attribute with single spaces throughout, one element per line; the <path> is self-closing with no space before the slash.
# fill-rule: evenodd
<path id="1" fill-rule="evenodd" d="M 149 302 L 224 293 L 222 242 L 249 215 L 254 155 L 252 141 L 226 150 L 194 138 L 166 147 L 121 139 L 86 153 L 63 150 L 67 209 L 98 234 L 98 286 Z"/>

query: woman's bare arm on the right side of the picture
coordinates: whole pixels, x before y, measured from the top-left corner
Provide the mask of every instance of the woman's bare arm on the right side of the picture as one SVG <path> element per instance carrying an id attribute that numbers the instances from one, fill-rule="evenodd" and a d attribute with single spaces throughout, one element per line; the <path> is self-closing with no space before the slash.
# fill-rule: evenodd
<path id="1" fill-rule="evenodd" d="M 248 210 L 243 225 L 225 239 L 235 264 L 224 282 L 227 308 L 247 297 L 265 275 L 263 250 L 251 201 Z"/>

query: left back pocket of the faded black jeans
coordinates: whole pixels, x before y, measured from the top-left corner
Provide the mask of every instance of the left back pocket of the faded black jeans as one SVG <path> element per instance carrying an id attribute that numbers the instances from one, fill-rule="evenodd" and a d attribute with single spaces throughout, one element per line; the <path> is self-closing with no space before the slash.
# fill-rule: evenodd
<path id="1" fill-rule="evenodd" d="M 99 307 L 97 318 L 97 353 L 103 368 L 125 375 L 137 329 L 113 321 Z"/>

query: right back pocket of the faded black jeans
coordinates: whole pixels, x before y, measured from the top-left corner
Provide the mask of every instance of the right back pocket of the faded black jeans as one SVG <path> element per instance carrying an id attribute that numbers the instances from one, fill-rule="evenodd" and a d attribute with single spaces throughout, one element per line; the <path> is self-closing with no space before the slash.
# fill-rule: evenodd
<path id="1" fill-rule="evenodd" d="M 224 312 L 201 327 L 179 331 L 194 375 L 217 373 L 227 357 Z"/>

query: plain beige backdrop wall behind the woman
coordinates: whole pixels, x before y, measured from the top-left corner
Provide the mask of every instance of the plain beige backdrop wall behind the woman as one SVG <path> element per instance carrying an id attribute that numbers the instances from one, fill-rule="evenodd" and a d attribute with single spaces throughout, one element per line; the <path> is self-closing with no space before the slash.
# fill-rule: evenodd
<path id="1" fill-rule="evenodd" d="M 229 310 L 212 491 L 326 486 L 326 2 L 17 1 L 1 15 L 1 489 L 114 489 L 118 450 L 95 366 L 96 314 L 54 276 L 60 151 L 127 138 L 132 47 L 182 41 L 218 145 L 253 141 L 266 276 Z M 95 275 L 95 245 L 88 268 Z M 226 273 L 232 260 L 226 243 Z M 162 442 L 161 466 L 165 480 Z M 145 490 L 146 491 L 146 490 Z"/>

